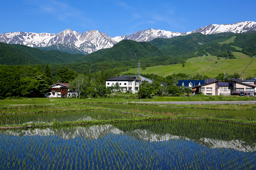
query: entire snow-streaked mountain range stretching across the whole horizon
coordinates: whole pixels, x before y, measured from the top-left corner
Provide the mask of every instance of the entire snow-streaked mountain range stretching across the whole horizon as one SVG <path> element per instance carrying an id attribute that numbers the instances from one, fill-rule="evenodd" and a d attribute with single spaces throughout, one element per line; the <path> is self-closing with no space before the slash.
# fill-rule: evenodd
<path id="1" fill-rule="evenodd" d="M 64 52 L 78 51 L 84 54 L 92 53 L 100 49 L 106 49 L 112 47 L 117 42 L 123 39 L 130 39 L 137 42 L 151 41 L 154 38 L 172 38 L 175 36 L 189 35 L 195 32 L 201 32 L 202 34 L 217 34 L 220 32 L 234 32 L 242 33 L 250 30 L 256 30 L 256 22 L 244 21 L 234 24 L 210 24 L 206 27 L 198 28 L 189 32 L 171 32 L 159 29 L 147 29 L 135 32 L 132 35 L 116 36 L 114 38 L 106 35 L 105 33 L 97 30 L 89 30 L 80 34 L 77 31 L 70 29 L 64 30 L 58 34 L 49 33 L 31 33 L 31 32 L 9 32 L 0 34 L 0 42 L 8 44 L 22 44 L 31 47 L 50 47 L 52 50 L 60 50 Z M 60 43 L 65 43 L 65 50 L 63 50 Z M 72 45 L 68 45 L 72 44 Z M 55 46 L 53 46 L 55 45 Z M 62 44 L 63 46 L 63 44 Z M 71 50 L 67 50 L 70 48 Z M 73 48 L 76 48 L 73 50 Z"/>

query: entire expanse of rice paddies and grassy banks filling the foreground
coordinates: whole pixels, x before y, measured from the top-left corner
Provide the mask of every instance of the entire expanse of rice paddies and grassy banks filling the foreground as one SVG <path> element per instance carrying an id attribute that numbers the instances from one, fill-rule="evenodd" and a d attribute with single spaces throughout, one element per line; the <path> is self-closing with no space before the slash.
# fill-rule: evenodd
<path id="1" fill-rule="evenodd" d="M 256 169 L 255 105 L 72 102 L 0 107 L 0 169 Z"/>

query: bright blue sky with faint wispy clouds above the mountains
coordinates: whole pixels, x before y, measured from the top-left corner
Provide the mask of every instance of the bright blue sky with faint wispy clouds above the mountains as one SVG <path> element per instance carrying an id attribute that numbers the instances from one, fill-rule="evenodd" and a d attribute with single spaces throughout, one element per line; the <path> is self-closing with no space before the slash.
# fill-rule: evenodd
<path id="1" fill-rule="evenodd" d="M 111 37 L 148 28 L 186 32 L 209 24 L 256 22 L 256 1 L 215 0 L 14 0 L 1 2 L 0 34 L 80 33 L 99 30 Z"/>

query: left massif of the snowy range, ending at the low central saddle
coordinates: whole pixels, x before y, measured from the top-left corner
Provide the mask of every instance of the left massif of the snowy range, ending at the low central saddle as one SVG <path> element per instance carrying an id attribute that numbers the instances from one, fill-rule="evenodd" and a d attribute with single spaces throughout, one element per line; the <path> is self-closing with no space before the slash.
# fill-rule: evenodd
<path id="1" fill-rule="evenodd" d="M 84 54 L 110 48 L 117 42 L 105 33 L 97 30 L 89 30 L 80 34 L 70 29 L 58 34 L 31 33 L 31 32 L 10 32 L 0 34 L 0 42 L 8 44 L 22 44 L 31 47 L 50 47 L 56 44 L 66 44 L 70 49 L 76 48 Z M 72 44 L 72 45 L 67 45 Z M 59 45 L 52 47 L 54 50 L 61 50 Z M 64 50 L 65 51 L 65 50 Z M 66 51 L 65 51 L 66 52 Z"/>

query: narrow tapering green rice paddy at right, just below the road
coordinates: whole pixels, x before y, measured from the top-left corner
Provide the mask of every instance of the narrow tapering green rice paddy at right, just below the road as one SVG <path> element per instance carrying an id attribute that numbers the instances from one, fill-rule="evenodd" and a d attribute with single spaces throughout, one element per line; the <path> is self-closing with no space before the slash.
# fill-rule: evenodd
<path id="1" fill-rule="evenodd" d="M 116 104 L 116 103 L 90 103 L 83 104 L 95 108 L 108 108 L 124 110 L 129 112 L 140 112 L 155 116 L 197 116 L 213 117 L 222 119 L 256 121 L 255 110 L 214 110 L 214 109 L 190 109 L 190 108 L 170 108 L 155 105 L 138 105 L 138 104 Z"/>

